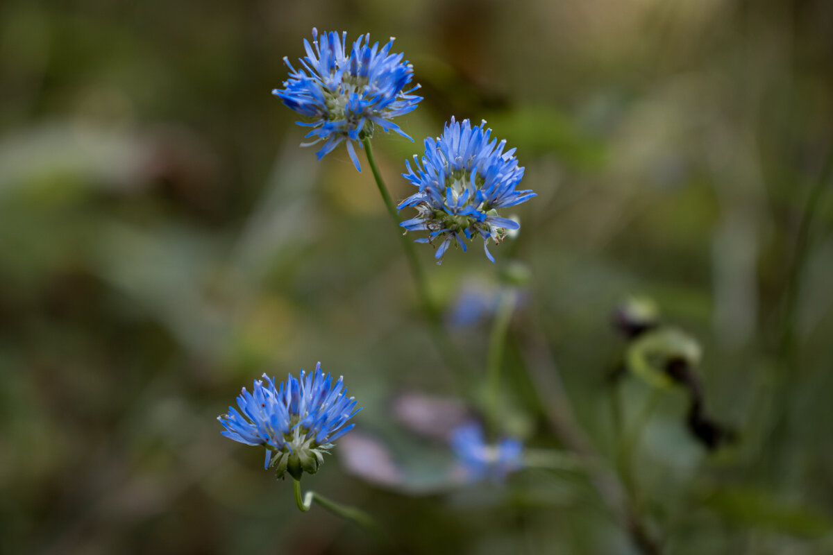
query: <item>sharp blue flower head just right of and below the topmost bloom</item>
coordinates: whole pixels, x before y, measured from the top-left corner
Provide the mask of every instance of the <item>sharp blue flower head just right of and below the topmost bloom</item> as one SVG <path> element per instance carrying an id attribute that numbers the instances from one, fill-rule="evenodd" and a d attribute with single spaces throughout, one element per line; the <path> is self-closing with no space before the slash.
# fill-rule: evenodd
<path id="1" fill-rule="evenodd" d="M 491 139 L 491 129 L 471 126 L 468 120 L 446 124 L 442 136 L 425 140 L 425 154 L 420 166 L 416 155 L 412 169 L 406 162 L 408 181 L 419 191 L 399 204 L 416 208 L 416 218 L 402 222 L 407 230 L 426 230 L 428 237 L 417 243 L 431 243 L 439 237 L 440 247 L 436 258 L 442 261 L 452 240 L 466 250 L 465 239 L 478 233 L 483 238 L 486 256 L 495 261 L 489 252 L 489 239 L 499 243 L 506 230 L 520 227 L 516 221 L 497 216 L 497 209 L 515 206 L 536 196 L 532 191 L 517 191 L 523 177 L 518 167 L 515 149 L 503 151 L 506 141 Z M 439 262 L 438 262 L 439 263 Z"/>

